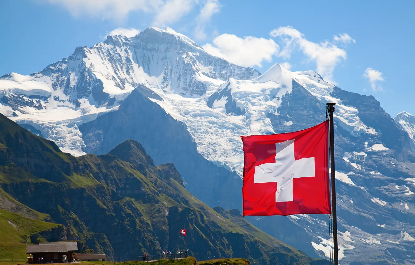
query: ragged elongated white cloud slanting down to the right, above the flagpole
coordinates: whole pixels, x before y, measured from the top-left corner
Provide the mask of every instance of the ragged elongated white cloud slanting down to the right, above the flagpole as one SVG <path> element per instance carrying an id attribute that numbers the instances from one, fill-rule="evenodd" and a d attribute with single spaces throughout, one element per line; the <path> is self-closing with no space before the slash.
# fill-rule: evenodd
<path id="1" fill-rule="evenodd" d="M 316 71 L 326 81 L 333 82 L 334 68 L 340 61 L 347 58 L 347 53 L 344 49 L 340 49 L 327 41 L 320 43 L 311 42 L 305 38 L 304 34 L 290 26 L 273 29 L 270 35 L 272 37 L 280 37 L 281 42 L 284 44 L 278 56 L 288 59 L 296 49 L 299 49 L 307 56 L 309 61 L 316 63 Z M 340 36 L 344 36 L 347 39 L 345 34 L 340 34 Z"/>

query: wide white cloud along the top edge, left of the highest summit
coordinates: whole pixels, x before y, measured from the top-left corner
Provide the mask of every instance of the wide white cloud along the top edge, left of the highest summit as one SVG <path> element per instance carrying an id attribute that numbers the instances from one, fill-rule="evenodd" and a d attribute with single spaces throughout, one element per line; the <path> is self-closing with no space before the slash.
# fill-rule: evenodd
<path id="1" fill-rule="evenodd" d="M 128 16 L 129 12 L 141 10 L 151 12 L 154 7 L 160 5 L 160 0 L 47 0 L 53 4 L 66 7 L 71 15 L 90 15 L 103 19 L 121 20 Z"/>

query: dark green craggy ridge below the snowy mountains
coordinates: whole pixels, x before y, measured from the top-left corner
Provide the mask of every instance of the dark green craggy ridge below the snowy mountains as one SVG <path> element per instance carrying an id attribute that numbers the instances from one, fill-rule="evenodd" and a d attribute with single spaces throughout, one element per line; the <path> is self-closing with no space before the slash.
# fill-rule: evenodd
<path id="1" fill-rule="evenodd" d="M 173 164 L 155 167 L 132 140 L 108 155 L 73 157 L 0 114 L 0 188 L 8 201 L 66 226 L 68 240 L 84 242 L 81 250 L 116 260 L 183 250 L 178 232 L 188 228 L 190 255 L 199 260 L 327 263 L 259 231 L 237 210 L 209 208 L 185 189 Z"/>

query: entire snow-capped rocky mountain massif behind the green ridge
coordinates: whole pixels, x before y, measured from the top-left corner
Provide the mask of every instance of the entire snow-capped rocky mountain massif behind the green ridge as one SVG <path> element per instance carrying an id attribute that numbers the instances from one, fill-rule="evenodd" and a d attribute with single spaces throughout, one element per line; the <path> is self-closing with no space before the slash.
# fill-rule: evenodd
<path id="1" fill-rule="evenodd" d="M 137 140 L 155 164 L 173 162 L 191 193 L 227 209 L 242 207 L 240 135 L 311 127 L 335 102 L 341 261 L 415 264 L 414 127 L 314 71 L 276 64 L 261 75 L 148 28 L 78 47 L 30 76 L 2 76 L 0 93 L 1 113 L 63 151 L 103 154 Z M 330 255 L 327 216 L 248 219 L 308 255 Z"/>

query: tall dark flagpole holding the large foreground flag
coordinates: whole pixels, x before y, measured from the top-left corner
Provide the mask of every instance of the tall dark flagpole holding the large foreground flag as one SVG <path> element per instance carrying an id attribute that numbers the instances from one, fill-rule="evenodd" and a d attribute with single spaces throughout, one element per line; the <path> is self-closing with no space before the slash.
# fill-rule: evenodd
<path id="1" fill-rule="evenodd" d="M 334 265 L 339 265 L 339 248 L 337 245 L 337 212 L 336 212 L 336 176 L 334 170 L 334 105 L 336 103 L 329 102 L 327 112 L 330 117 L 330 168 L 332 175 L 332 218 L 333 218 L 333 248 L 334 248 Z"/>

